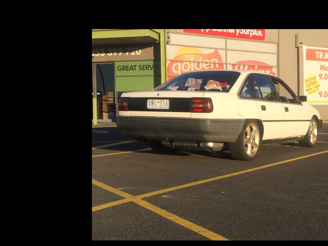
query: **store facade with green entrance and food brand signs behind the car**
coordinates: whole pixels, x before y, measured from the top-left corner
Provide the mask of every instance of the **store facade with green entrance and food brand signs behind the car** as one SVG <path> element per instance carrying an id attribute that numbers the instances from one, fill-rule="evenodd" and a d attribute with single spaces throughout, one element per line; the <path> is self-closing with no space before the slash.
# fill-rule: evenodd
<path id="1" fill-rule="evenodd" d="M 276 75 L 328 120 L 328 30 L 92 30 L 92 122 L 115 121 L 123 92 L 199 70 Z"/>

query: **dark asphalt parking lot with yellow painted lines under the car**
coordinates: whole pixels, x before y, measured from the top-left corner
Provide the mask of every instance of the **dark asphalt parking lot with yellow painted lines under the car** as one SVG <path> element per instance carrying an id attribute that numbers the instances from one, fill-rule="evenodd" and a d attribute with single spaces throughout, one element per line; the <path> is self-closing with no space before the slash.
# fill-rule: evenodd
<path id="1" fill-rule="evenodd" d="M 252 161 L 155 154 L 115 126 L 92 125 L 91 240 L 328 240 L 328 124 Z"/>

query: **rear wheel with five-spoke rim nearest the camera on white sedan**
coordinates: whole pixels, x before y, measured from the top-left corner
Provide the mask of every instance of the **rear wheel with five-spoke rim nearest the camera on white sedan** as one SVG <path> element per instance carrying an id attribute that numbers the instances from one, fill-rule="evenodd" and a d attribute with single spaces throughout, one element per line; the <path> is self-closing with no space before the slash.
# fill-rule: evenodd
<path id="1" fill-rule="evenodd" d="M 253 160 L 260 146 L 260 129 L 255 120 L 246 120 L 245 124 L 234 143 L 229 143 L 229 150 L 236 160 Z"/>

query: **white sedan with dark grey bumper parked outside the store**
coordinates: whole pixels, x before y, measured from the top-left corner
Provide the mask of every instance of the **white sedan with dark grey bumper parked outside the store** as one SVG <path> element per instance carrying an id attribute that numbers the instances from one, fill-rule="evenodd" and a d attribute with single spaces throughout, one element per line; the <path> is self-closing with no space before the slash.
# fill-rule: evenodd
<path id="1" fill-rule="evenodd" d="M 322 119 L 306 101 L 270 74 L 197 71 L 152 91 L 123 93 L 115 121 L 124 136 L 149 142 L 159 154 L 216 152 L 226 144 L 234 159 L 253 160 L 260 145 L 316 144 Z"/>

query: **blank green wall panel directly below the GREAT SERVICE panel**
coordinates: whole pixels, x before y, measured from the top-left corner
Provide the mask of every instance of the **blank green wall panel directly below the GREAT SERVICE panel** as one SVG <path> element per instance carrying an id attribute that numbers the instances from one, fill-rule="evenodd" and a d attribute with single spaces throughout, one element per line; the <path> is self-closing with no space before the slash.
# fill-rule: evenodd
<path id="1" fill-rule="evenodd" d="M 116 91 L 153 90 L 161 84 L 161 76 L 116 77 Z"/>

